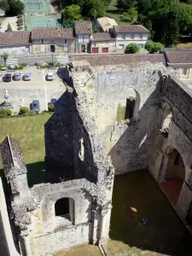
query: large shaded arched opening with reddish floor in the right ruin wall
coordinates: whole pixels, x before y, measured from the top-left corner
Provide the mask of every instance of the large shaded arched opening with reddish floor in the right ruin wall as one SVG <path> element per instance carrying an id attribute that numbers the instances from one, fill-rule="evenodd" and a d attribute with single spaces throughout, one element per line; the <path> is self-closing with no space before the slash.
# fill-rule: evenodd
<path id="1" fill-rule="evenodd" d="M 177 205 L 185 178 L 185 167 L 177 149 L 168 148 L 166 152 L 164 181 L 160 183 L 160 187 L 172 204 Z"/>

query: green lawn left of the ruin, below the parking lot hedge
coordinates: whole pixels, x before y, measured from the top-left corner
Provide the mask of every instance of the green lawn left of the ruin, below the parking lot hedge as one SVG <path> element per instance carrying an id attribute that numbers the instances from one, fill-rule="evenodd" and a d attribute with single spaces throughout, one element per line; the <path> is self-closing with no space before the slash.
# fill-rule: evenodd
<path id="1" fill-rule="evenodd" d="M 19 141 L 26 162 L 27 178 L 30 186 L 44 180 L 44 123 L 49 118 L 50 114 L 44 113 L 0 119 L 0 142 L 7 135 Z M 0 161 L 0 169 L 3 169 L 2 161 Z"/>

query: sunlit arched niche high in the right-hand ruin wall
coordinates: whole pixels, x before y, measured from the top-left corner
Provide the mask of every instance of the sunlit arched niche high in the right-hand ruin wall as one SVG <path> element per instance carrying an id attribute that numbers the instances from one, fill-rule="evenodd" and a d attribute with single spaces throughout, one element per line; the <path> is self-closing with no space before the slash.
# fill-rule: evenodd
<path id="1" fill-rule="evenodd" d="M 167 103 L 161 103 L 162 115 L 160 120 L 160 129 L 166 130 L 170 129 L 173 119 L 172 107 Z"/>

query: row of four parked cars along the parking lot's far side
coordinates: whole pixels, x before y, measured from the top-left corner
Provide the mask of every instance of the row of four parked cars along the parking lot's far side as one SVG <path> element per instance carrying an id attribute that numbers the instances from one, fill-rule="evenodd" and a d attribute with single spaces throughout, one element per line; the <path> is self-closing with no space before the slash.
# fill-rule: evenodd
<path id="1" fill-rule="evenodd" d="M 21 79 L 21 73 L 15 72 L 14 75 L 12 76 L 11 73 L 5 73 L 3 77 L 0 76 L 0 81 L 3 80 L 3 82 L 10 82 L 11 80 L 19 81 Z M 24 73 L 23 75 L 23 80 L 24 81 L 30 81 L 32 79 L 32 74 L 31 73 Z M 48 81 L 53 81 L 54 80 L 54 73 L 49 72 L 46 75 L 46 79 Z"/>

